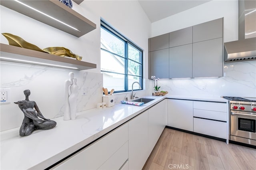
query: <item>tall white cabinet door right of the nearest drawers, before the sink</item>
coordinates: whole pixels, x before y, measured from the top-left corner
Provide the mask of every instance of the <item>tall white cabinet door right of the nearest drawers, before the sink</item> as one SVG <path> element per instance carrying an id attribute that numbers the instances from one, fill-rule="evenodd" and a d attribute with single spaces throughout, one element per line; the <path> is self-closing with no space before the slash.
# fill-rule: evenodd
<path id="1" fill-rule="evenodd" d="M 129 169 L 142 169 L 148 159 L 148 111 L 144 111 L 128 123 Z"/>

